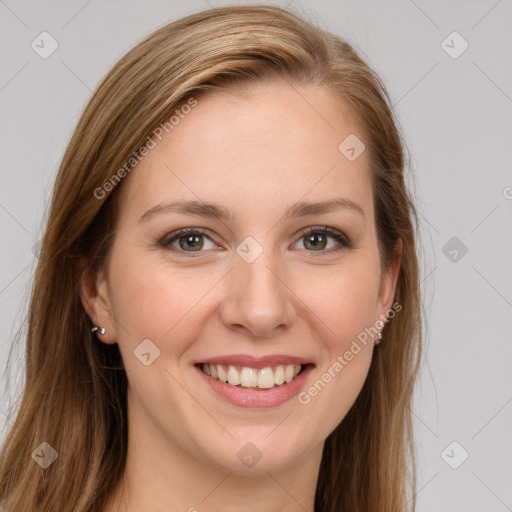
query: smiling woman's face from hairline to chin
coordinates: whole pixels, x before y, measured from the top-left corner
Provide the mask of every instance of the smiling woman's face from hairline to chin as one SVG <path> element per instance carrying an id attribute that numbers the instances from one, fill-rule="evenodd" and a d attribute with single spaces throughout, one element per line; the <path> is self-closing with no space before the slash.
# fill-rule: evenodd
<path id="1" fill-rule="evenodd" d="M 249 92 L 196 96 L 125 178 L 93 314 L 119 344 L 130 421 L 237 472 L 321 449 L 398 269 L 381 273 L 364 137 L 331 93 Z"/>

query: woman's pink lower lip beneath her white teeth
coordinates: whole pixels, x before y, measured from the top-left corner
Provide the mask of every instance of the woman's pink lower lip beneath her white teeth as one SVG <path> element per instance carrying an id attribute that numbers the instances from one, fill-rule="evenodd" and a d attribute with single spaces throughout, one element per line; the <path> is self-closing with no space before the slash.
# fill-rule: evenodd
<path id="1" fill-rule="evenodd" d="M 238 407 L 277 407 L 299 394 L 309 373 L 313 369 L 313 365 L 307 365 L 302 373 L 297 375 L 292 381 L 261 391 L 232 386 L 206 375 L 197 366 L 196 369 L 205 382 L 219 396 L 233 405 Z"/>

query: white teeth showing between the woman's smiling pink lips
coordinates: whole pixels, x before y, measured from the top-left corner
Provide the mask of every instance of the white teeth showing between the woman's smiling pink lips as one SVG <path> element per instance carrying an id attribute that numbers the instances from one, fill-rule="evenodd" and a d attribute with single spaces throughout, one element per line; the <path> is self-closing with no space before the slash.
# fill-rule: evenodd
<path id="1" fill-rule="evenodd" d="M 286 364 L 260 369 L 209 363 L 200 363 L 197 366 L 206 375 L 231 386 L 264 390 L 286 385 L 311 365 Z"/>

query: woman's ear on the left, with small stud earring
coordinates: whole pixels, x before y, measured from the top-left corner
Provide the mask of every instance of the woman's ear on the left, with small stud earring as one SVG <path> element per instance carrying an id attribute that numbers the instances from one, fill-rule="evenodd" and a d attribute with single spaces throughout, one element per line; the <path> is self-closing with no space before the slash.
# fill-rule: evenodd
<path id="1" fill-rule="evenodd" d="M 105 334 L 97 333 L 98 340 L 108 345 L 116 343 L 114 315 L 106 276 L 103 272 L 93 270 L 85 258 L 80 260 L 77 272 L 80 300 L 92 326 L 105 328 Z"/>

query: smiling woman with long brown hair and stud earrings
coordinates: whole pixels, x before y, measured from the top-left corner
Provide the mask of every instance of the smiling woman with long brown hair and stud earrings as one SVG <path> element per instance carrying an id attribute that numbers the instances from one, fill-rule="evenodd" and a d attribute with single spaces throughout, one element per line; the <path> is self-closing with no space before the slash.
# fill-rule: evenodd
<path id="1" fill-rule="evenodd" d="M 271 6 L 151 34 L 57 176 L 5 509 L 414 510 L 416 228 L 341 38 Z"/>

